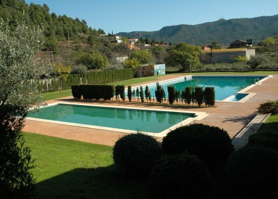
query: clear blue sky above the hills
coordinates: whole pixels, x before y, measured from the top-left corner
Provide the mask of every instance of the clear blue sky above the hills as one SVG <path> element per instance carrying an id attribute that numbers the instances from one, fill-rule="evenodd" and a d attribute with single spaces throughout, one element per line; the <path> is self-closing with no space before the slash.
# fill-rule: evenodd
<path id="1" fill-rule="evenodd" d="M 50 13 L 84 19 L 105 33 L 155 31 L 164 26 L 195 25 L 220 17 L 253 18 L 278 14 L 278 0 L 25 0 Z"/>

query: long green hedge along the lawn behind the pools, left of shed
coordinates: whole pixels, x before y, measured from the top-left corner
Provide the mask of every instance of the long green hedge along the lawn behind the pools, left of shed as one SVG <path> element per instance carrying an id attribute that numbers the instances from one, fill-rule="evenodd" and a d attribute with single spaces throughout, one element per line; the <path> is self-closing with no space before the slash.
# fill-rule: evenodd
<path id="1" fill-rule="evenodd" d="M 89 72 L 87 74 L 70 74 L 66 81 L 61 80 L 62 90 L 67 90 L 71 88 L 71 85 L 81 84 L 106 84 L 111 82 L 117 82 L 122 80 L 128 80 L 136 77 L 136 69 L 121 69 L 112 71 L 99 71 L 99 72 Z M 49 80 L 40 80 L 37 82 L 38 92 L 47 93 L 60 91 L 60 78 L 53 77 Z"/>

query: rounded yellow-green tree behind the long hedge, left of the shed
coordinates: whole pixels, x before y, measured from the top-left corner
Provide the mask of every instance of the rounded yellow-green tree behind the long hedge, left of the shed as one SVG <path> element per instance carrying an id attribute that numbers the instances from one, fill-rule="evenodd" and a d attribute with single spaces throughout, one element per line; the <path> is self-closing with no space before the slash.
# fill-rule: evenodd
<path id="1" fill-rule="evenodd" d="M 107 57 L 98 53 L 83 54 L 76 63 L 88 66 L 88 69 L 104 69 L 109 64 Z"/>

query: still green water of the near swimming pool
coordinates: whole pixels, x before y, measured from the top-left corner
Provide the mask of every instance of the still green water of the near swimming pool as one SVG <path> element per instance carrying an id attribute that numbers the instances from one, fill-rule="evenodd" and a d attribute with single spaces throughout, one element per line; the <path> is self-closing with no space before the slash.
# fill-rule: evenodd
<path id="1" fill-rule="evenodd" d="M 195 117 L 195 114 L 56 104 L 41 108 L 41 112 L 30 113 L 28 117 L 126 129 L 131 132 L 139 129 L 142 132 L 160 133 L 189 117 Z"/>

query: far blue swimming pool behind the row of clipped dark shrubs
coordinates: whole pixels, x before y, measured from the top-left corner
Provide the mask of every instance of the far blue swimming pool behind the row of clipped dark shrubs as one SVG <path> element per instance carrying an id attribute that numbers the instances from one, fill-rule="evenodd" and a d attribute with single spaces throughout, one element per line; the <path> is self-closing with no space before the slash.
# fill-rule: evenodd
<path id="1" fill-rule="evenodd" d="M 165 82 L 158 82 L 147 86 L 152 97 L 155 97 L 154 92 L 158 85 L 163 87 L 166 97 L 168 97 L 168 86 L 175 86 L 176 90 L 180 90 L 181 92 L 186 87 L 214 87 L 216 101 L 243 102 L 255 95 L 245 92 L 255 86 L 254 83 L 261 84 L 261 82 L 266 80 L 268 77 L 269 76 L 194 75 Z M 137 88 L 132 89 L 136 90 Z M 143 90 L 144 89 L 145 86 L 143 87 Z"/>

